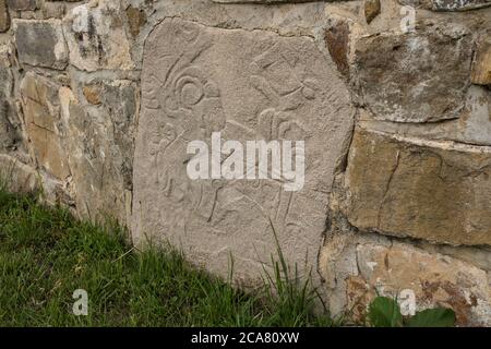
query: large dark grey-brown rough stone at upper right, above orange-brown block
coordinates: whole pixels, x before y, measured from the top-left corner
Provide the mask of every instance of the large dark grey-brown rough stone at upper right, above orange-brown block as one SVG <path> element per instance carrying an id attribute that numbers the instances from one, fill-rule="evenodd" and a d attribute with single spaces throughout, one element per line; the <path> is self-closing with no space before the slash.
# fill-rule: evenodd
<path id="1" fill-rule="evenodd" d="M 426 122 L 457 118 L 469 85 L 472 52 L 471 36 L 462 32 L 418 29 L 357 41 L 360 93 L 376 119 Z"/>

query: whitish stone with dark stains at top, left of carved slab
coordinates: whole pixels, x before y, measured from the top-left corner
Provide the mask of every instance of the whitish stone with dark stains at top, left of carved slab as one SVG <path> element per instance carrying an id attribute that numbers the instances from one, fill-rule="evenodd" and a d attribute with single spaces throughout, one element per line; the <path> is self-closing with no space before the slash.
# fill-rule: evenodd
<path id="1" fill-rule="evenodd" d="M 118 1 L 100 0 L 97 7 L 81 4 L 63 21 L 71 64 L 89 72 L 133 68 Z"/>

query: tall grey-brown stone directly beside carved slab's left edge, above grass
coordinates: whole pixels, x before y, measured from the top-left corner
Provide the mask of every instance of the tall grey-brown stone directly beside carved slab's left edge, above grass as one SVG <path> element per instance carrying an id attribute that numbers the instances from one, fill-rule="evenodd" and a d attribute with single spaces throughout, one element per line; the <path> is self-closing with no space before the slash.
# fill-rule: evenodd
<path id="1" fill-rule="evenodd" d="M 68 87 L 59 93 L 75 204 L 84 217 L 98 220 L 110 216 L 127 224 L 137 97 L 128 81 L 99 82 L 97 86 L 101 96 L 95 108 L 84 106 Z"/>

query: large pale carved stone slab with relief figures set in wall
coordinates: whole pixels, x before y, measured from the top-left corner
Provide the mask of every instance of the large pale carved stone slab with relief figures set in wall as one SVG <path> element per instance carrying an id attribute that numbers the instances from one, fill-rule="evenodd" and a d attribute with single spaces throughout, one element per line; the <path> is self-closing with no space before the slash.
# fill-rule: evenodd
<path id="1" fill-rule="evenodd" d="M 315 270 L 333 173 L 354 122 L 334 63 L 309 37 L 164 20 L 148 36 L 134 157 L 132 232 L 169 241 L 195 264 L 252 281 L 276 253 Z M 306 142 L 306 183 L 190 180 L 189 142 Z"/>

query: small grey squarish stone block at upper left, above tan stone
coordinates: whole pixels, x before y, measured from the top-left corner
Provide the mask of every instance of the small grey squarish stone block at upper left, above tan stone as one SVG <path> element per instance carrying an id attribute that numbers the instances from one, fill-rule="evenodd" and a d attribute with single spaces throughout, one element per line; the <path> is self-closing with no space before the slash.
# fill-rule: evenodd
<path id="1" fill-rule="evenodd" d="M 15 44 L 21 63 L 62 70 L 68 49 L 59 20 L 14 20 Z"/>

